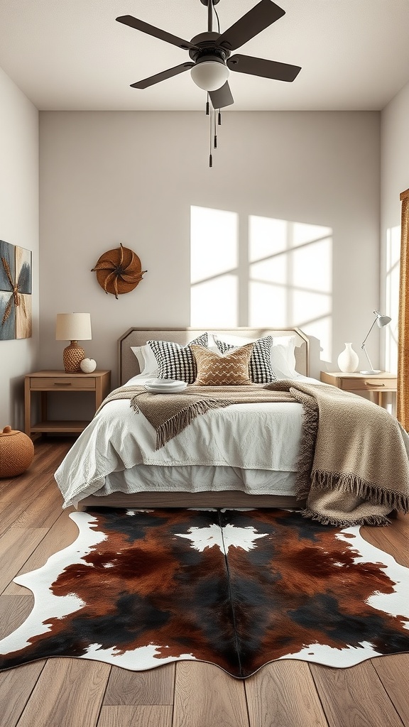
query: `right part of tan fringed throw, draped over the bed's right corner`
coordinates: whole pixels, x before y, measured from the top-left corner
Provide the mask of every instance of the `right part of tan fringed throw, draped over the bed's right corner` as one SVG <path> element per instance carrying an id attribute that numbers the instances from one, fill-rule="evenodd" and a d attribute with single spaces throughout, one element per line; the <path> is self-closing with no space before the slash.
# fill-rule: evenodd
<path id="1" fill-rule="evenodd" d="M 304 429 L 314 428 L 314 449 L 304 435 L 299 466 L 310 467 L 304 515 L 323 524 L 386 525 L 391 510 L 409 510 L 409 437 L 381 406 L 330 385 L 277 382 L 303 404 Z M 305 481 L 305 480 L 304 480 Z"/>

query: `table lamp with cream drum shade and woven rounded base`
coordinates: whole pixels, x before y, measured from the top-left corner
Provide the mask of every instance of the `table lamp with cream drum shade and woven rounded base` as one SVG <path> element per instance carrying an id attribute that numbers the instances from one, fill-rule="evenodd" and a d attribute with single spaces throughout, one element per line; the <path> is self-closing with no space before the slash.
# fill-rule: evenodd
<path id="1" fill-rule="evenodd" d="M 81 371 L 79 364 L 85 358 L 84 349 L 77 341 L 90 341 L 91 314 L 90 313 L 57 313 L 55 326 L 56 341 L 71 341 L 63 351 L 64 370 L 67 374 Z"/>

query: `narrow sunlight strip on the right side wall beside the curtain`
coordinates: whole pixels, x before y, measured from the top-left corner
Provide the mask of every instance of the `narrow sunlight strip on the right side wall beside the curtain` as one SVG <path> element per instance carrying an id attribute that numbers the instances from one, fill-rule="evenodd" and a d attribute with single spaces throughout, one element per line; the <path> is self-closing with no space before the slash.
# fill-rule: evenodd
<path id="1" fill-rule="evenodd" d="M 386 231 L 386 315 L 392 318 L 385 329 L 385 369 L 397 371 L 399 316 L 400 225 Z"/>

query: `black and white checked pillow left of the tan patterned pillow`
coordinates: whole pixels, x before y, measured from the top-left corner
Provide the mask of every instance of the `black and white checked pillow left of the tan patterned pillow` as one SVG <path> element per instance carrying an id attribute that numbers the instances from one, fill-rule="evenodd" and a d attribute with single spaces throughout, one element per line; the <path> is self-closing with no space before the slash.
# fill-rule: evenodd
<path id="1" fill-rule="evenodd" d="M 202 334 L 186 346 L 172 341 L 147 341 L 158 362 L 159 379 L 178 379 L 193 384 L 196 379 L 196 361 L 191 350 L 191 343 L 207 347 L 207 333 Z"/>

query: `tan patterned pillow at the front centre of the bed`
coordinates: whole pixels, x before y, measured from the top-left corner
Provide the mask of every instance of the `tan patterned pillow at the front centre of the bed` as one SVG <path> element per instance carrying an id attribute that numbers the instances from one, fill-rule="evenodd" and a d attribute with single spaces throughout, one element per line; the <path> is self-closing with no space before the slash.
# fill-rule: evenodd
<path id="1" fill-rule="evenodd" d="M 252 383 L 249 364 L 253 343 L 247 343 L 223 356 L 204 346 L 191 345 L 191 350 L 197 366 L 195 384 L 199 386 L 239 386 Z"/>

